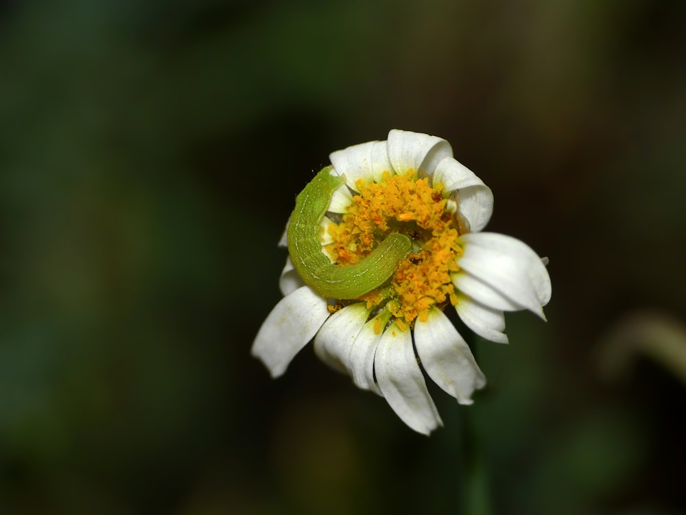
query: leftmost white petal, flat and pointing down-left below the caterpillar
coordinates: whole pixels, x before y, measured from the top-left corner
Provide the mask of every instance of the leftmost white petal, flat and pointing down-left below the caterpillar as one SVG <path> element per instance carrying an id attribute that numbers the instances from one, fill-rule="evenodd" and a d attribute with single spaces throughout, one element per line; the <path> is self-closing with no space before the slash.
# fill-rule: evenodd
<path id="1" fill-rule="evenodd" d="M 307 286 L 298 288 L 268 314 L 252 343 L 252 355 L 262 360 L 272 377 L 281 376 L 328 318 L 326 299 Z"/>

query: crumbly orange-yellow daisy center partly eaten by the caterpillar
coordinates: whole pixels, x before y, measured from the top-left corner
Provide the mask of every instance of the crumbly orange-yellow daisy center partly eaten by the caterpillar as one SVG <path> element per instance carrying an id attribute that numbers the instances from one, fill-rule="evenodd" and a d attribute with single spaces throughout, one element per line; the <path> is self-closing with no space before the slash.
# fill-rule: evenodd
<path id="1" fill-rule="evenodd" d="M 372 290 L 359 300 L 367 307 L 385 309 L 401 330 L 416 319 L 426 321 L 433 306 L 457 304 L 451 273 L 460 268 L 458 245 L 461 231 L 457 209 L 447 209 L 449 201 L 441 184 L 429 185 L 414 170 L 403 175 L 383 173 L 381 183 L 355 183 L 359 194 L 340 223 L 329 225 L 333 242 L 324 249 L 341 266 L 355 264 L 376 247 L 388 233 L 399 232 L 413 240 L 413 251 L 398 263 L 388 284 Z M 454 206 L 454 204 L 453 204 Z"/>

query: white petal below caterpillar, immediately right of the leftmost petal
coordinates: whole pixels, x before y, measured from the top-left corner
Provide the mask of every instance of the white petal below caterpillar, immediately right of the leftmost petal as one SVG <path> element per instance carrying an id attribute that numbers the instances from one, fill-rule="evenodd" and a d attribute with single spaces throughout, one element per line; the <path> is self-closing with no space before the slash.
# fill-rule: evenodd
<path id="1" fill-rule="evenodd" d="M 317 356 L 330 367 L 351 374 L 350 352 L 369 312 L 364 302 L 358 302 L 332 314 L 314 339 Z"/>

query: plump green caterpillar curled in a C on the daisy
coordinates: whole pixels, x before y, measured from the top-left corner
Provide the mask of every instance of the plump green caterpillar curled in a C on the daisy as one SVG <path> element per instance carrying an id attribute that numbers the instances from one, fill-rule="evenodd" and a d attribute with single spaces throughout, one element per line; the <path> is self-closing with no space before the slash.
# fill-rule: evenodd
<path id="1" fill-rule="evenodd" d="M 324 297 L 355 299 L 386 282 L 412 250 L 412 242 L 404 234 L 391 233 L 359 263 L 331 264 L 322 253 L 320 223 L 333 191 L 345 183 L 344 177 L 331 174 L 332 169 L 322 168 L 296 198 L 288 225 L 288 251 L 307 286 Z"/>

